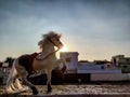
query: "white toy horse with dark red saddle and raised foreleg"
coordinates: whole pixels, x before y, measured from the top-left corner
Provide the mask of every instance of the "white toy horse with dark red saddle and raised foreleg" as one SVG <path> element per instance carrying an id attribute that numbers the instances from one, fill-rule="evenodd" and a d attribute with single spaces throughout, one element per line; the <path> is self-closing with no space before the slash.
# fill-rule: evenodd
<path id="1" fill-rule="evenodd" d="M 43 34 L 42 40 L 38 43 L 42 50 L 40 54 L 35 53 L 31 55 L 23 55 L 14 61 L 6 82 L 6 93 L 20 91 L 23 88 L 22 84 L 25 84 L 31 88 L 34 95 L 37 95 L 37 88 L 27 80 L 27 77 L 32 72 L 39 72 L 43 70 L 47 72 L 48 92 L 52 91 L 51 73 L 53 68 L 57 67 L 60 64 L 63 64 L 63 72 L 66 69 L 65 60 L 57 59 L 55 55 L 55 53 L 63 47 L 60 38 L 61 36 L 53 31 L 49 32 L 48 34 Z M 57 50 L 55 50 L 54 46 L 56 46 Z"/>

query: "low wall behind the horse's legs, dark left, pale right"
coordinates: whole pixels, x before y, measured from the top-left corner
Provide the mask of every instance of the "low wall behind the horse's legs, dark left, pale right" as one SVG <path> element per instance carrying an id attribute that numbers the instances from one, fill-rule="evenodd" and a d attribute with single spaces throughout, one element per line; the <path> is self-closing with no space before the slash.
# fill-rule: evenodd
<path id="1" fill-rule="evenodd" d="M 29 81 L 36 85 L 47 84 L 47 75 L 30 78 Z M 130 81 L 130 73 L 68 73 L 52 75 L 52 84 L 63 83 L 88 83 L 91 81 Z"/>

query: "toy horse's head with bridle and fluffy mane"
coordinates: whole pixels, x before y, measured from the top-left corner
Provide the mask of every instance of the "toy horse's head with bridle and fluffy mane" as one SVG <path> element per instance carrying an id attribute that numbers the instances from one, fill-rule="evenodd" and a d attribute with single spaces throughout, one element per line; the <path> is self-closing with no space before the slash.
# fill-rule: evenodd
<path id="1" fill-rule="evenodd" d="M 60 40 L 61 34 L 54 32 L 54 31 L 50 31 L 47 34 L 43 34 L 43 40 L 39 41 L 39 45 L 42 48 L 43 45 L 46 44 L 46 41 L 50 42 L 53 46 L 56 46 L 57 48 L 62 48 L 63 47 L 63 43 Z"/>

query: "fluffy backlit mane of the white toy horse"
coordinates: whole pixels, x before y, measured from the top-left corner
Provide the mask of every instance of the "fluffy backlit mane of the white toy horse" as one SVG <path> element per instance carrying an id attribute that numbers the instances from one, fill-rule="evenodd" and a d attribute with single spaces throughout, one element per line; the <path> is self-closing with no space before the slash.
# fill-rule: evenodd
<path id="1" fill-rule="evenodd" d="M 47 34 L 42 34 L 42 39 L 38 42 L 38 45 L 40 46 L 40 48 L 43 48 L 46 41 L 48 40 L 48 38 L 53 38 L 56 37 L 57 39 L 60 39 L 62 36 L 54 32 L 54 31 L 49 31 Z"/>

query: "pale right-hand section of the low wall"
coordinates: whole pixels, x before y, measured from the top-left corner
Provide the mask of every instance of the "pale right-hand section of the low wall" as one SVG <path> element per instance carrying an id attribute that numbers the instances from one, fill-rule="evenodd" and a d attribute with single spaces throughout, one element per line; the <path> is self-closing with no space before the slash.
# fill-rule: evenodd
<path id="1" fill-rule="evenodd" d="M 130 73 L 93 73 L 91 81 L 130 81 Z"/>

